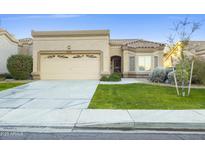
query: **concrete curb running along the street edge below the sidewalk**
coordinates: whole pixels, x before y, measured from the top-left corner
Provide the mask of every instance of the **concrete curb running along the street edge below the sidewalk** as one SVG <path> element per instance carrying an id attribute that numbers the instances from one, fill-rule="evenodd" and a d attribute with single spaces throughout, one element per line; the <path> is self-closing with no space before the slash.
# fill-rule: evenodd
<path id="1" fill-rule="evenodd" d="M 81 126 L 63 125 L 1 125 L 0 131 L 17 132 L 70 132 L 72 130 L 173 130 L 173 131 L 205 131 L 205 123 L 104 123 L 104 124 L 84 124 Z"/>

